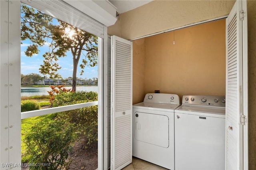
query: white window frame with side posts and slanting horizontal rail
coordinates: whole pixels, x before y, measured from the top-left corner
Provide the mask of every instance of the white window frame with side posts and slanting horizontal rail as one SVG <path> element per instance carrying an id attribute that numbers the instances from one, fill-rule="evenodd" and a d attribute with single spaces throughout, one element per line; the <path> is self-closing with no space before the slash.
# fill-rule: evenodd
<path id="1" fill-rule="evenodd" d="M 22 112 L 20 110 L 20 3 L 22 1 L 8 0 L 0 1 L 0 162 L 19 164 L 21 163 L 21 119 L 73 110 L 98 104 L 98 146 L 103 146 L 103 134 L 106 132 L 103 126 L 103 62 L 104 54 L 106 54 L 107 44 L 107 27 L 102 25 L 103 34 L 98 38 L 98 101 L 87 102 L 82 104 L 74 104 L 49 108 L 44 110 L 36 110 L 30 112 Z M 28 1 L 29 2 L 29 1 Z M 38 2 L 38 1 L 36 1 Z M 43 2 L 43 1 L 42 1 Z M 47 1 L 50 2 L 50 1 Z M 54 2 L 54 1 L 52 1 Z M 30 5 L 30 4 L 28 4 Z M 32 5 L 30 5 L 32 6 Z M 34 6 L 32 6 L 34 7 Z M 70 9 L 72 7 L 70 6 Z M 74 8 L 72 10 L 74 11 Z M 81 12 L 80 12 L 81 13 Z M 62 11 L 65 14 L 65 11 Z M 92 19 L 92 18 L 91 18 Z M 95 21 L 95 20 L 94 20 Z M 65 22 L 65 21 L 64 21 Z M 97 22 L 97 21 L 95 21 Z M 98 22 L 97 22 L 98 23 Z M 72 23 L 71 23 L 72 24 Z M 84 30 L 84 29 L 83 29 Z M 87 30 L 85 30 L 87 31 Z M 8 34 L 6 34 L 8 32 Z M 89 31 L 88 31 L 89 32 Z M 96 35 L 98 36 L 98 35 Z M 13 42 L 12 42 L 13 41 Z M 15 50 L 14 50 L 15 49 Z M 3 67 L 2 67 L 3 65 Z M 15 68 L 14 68 L 15 67 Z M 8 72 L 8 74 L 6 74 Z M 104 131 L 104 132 L 103 132 Z M 105 148 L 98 147 L 98 169 L 104 169 L 103 153 Z M 1 167 L 0 170 L 7 167 Z M 12 169 L 20 169 L 13 167 Z"/>

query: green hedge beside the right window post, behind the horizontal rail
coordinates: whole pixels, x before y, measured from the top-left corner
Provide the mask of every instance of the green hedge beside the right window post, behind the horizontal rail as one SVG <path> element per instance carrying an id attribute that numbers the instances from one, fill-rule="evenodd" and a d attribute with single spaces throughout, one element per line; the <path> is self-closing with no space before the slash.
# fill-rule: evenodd
<path id="1" fill-rule="evenodd" d="M 55 96 L 54 107 L 66 106 L 98 100 L 96 92 L 68 92 Z M 98 141 L 98 106 L 69 110 L 58 114 L 60 120 L 74 124 L 75 133 L 88 140 L 88 146 L 96 146 Z"/>

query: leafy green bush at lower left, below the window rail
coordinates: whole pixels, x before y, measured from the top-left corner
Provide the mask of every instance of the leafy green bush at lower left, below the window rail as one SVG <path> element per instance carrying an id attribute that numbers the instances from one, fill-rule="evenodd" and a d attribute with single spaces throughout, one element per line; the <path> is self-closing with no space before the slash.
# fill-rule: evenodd
<path id="1" fill-rule="evenodd" d="M 32 158 L 30 170 L 63 170 L 68 169 L 72 160 L 68 160 L 71 143 L 74 141 L 72 124 L 60 120 L 39 122 L 31 128 L 25 137 L 25 143 Z"/>

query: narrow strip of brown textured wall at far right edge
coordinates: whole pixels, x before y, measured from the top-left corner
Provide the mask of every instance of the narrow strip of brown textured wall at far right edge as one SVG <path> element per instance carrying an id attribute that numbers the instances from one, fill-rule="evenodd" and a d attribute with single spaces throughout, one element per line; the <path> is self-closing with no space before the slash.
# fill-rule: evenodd
<path id="1" fill-rule="evenodd" d="M 249 170 L 256 170 L 256 1 L 248 9 Z"/>

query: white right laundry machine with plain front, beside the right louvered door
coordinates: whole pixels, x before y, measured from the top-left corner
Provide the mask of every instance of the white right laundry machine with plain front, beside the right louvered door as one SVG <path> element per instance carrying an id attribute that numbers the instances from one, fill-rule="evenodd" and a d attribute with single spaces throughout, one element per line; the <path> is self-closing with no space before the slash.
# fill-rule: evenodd
<path id="1" fill-rule="evenodd" d="M 225 96 L 183 96 L 175 110 L 175 170 L 225 170 Z"/>

